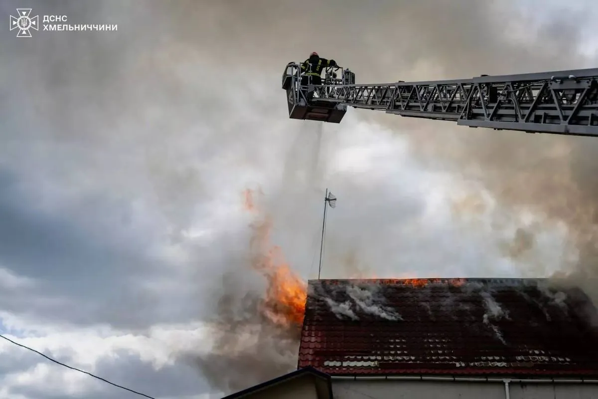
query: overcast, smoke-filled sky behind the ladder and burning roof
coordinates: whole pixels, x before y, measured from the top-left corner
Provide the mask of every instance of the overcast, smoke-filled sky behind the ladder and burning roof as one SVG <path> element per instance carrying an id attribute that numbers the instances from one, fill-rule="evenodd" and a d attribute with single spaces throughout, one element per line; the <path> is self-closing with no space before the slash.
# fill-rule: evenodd
<path id="1" fill-rule="evenodd" d="M 325 188 L 325 278 L 596 276 L 594 139 L 356 109 L 322 127 L 280 89 L 314 50 L 360 83 L 594 67 L 594 1 L 0 5 L 0 332 L 20 343 L 153 397 L 217 396 L 187 355 L 210 351 L 225 291 L 263 292 L 249 224 L 270 217 L 314 278 Z M 17 7 L 118 31 L 16 38 Z M 0 398 L 137 397 L 0 352 Z"/>

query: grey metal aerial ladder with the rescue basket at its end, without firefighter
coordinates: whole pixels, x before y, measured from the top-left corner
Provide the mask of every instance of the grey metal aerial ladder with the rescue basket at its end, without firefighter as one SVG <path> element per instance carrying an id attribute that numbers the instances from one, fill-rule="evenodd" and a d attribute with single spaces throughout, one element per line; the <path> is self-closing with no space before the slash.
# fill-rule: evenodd
<path id="1" fill-rule="evenodd" d="M 598 136 L 598 68 L 380 84 L 355 84 L 355 73 L 340 66 L 324 73 L 322 85 L 302 86 L 300 64 L 286 65 L 289 118 L 340 123 L 352 106 L 460 126 Z"/>

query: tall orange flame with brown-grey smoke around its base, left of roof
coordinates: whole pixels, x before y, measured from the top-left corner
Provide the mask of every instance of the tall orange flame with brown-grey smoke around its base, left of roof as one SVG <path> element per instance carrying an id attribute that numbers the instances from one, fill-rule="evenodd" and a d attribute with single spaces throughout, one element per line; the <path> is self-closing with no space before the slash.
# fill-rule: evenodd
<path id="1" fill-rule="evenodd" d="M 246 210 L 257 215 L 246 263 L 225 272 L 215 293 L 219 299 L 209 335 L 212 349 L 194 360 L 212 387 L 224 392 L 248 388 L 297 366 L 307 287 L 271 243 L 273 224 L 255 194 L 243 192 Z"/>

